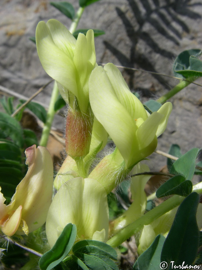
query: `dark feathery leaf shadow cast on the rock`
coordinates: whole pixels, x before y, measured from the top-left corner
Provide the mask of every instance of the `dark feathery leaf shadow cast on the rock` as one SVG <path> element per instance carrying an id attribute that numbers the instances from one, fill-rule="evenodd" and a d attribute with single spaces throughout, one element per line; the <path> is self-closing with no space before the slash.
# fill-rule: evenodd
<path id="1" fill-rule="evenodd" d="M 164 58 L 173 60 L 176 55 L 173 53 L 172 44 L 180 45 L 182 39 L 182 32 L 189 33 L 188 23 L 185 18 L 201 19 L 201 15 L 192 10 L 194 6 L 201 6 L 202 3 L 197 2 L 192 4 L 192 0 L 127 0 L 130 9 L 136 19 L 136 25 L 133 25 L 131 19 L 118 7 L 116 12 L 123 22 L 127 37 L 131 41 L 129 57 L 124 55 L 117 47 L 113 46 L 107 41 L 104 44 L 113 55 L 119 60 L 122 66 L 141 68 L 144 70 L 157 72 L 149 55 L 138 51 L 137 44 L 142 40 L 152 52 L 162 55 Z M 150 25 L 150 29 L 154 29 L 164 40 L 168 40 L 171 46 L 165 48 L 162 46 L 161 38 L 154 40 L 152 31 L 146 32 L 144 30 L 145 24 Z M 179 31 L 179 29 L 181 31 Z M 133 70 L 125 70 L 129 76 L 129 87 L 133 88 Z M 157 81 L 168 88 L 168 81 L 160 75 L 152 75 Z"/>

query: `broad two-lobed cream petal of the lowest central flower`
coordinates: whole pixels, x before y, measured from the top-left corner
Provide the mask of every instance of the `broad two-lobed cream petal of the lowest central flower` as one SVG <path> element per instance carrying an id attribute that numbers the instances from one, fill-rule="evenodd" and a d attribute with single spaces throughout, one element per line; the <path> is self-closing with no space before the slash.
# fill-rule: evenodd
<path id="1" fill-rule="evenodd" d="M 99 213 L 99 214 L 98 214 Z M 54 196 L 46 220 L 46 235 L 52 247 L 67 223 L 77 226 L 77 239 L 92 239 L 94 232 L 109 226 L 107 194 L 94 179 L 74 178 Z"/>

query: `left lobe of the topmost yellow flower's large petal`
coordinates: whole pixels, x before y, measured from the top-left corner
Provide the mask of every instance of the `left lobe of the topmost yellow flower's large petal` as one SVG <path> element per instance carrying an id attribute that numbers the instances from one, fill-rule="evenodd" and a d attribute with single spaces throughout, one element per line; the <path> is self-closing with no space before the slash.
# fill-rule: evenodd
<path id="1" fill-rule="evenodd" d="M 66 40 L 63 43 L 64 46 L 68 46 Z M 43 21 L 37 25 L 36 44 L 41 64 L 46 73 L 65 88 L 69 89 L 75 96 L 78 96 L 72 55 L 68 54 L 68 49 L 67 52 L 63 51 L 64 46 L 61 48 L 61 46 L 58 47 L 54 43 L 51 32 Z"/>

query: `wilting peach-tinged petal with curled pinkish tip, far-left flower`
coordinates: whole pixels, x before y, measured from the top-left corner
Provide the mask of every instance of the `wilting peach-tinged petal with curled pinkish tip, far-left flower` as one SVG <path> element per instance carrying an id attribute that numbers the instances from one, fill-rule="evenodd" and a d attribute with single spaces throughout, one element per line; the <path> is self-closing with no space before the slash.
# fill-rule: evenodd
<path id="1" fill-rule="evenodd" d="M 28 172 L 16 187 L 13 196 L 13 210 L 22 205 L 22 219 L 28 225 L 29 232 L 38 229 L 45 223 L 53 191 L 53 162 L 45 147 L 31 146 L 25 151 Z M 22 230 L 16 232 L 24 234 Z"/>

